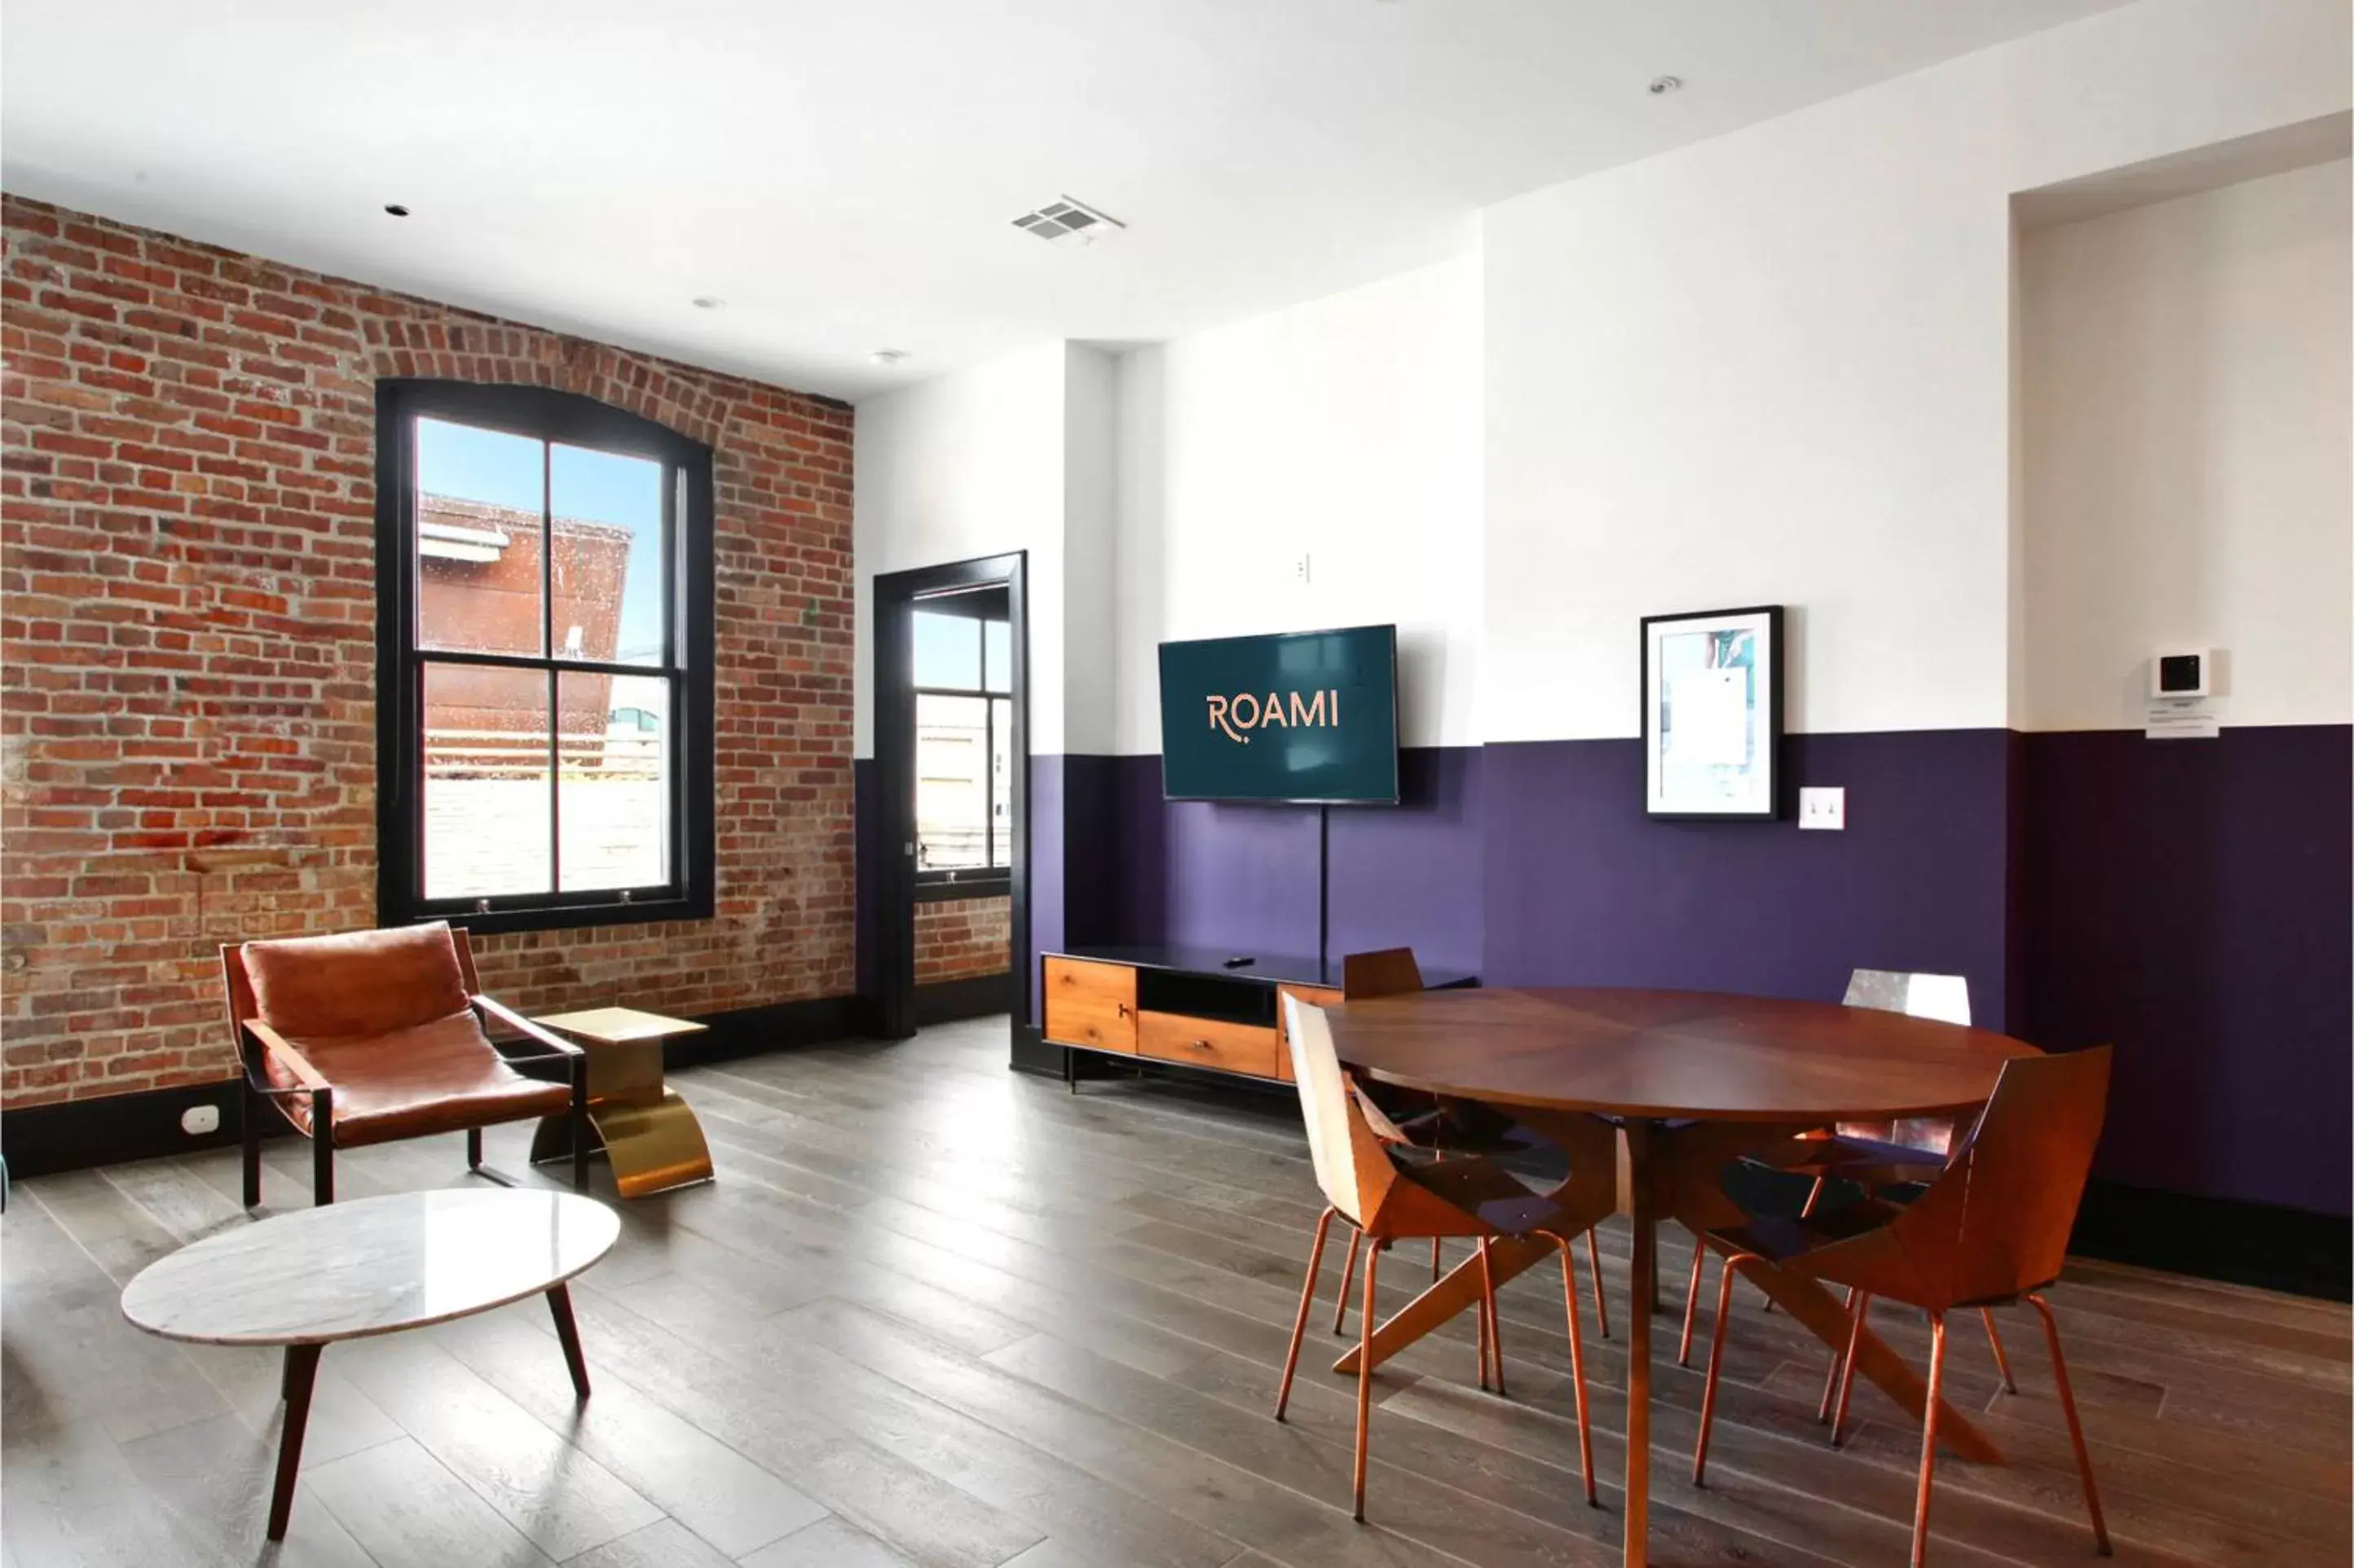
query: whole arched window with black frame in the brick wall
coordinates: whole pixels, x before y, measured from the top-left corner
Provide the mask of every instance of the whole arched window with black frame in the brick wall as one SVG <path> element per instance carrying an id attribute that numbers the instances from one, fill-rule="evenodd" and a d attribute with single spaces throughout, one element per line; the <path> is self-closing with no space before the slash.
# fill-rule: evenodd
<path id="1" fill-rule="evenodd" d="M 709 917 L 711 616 L 709 447 L 379 381 L 379 919 Z"/>

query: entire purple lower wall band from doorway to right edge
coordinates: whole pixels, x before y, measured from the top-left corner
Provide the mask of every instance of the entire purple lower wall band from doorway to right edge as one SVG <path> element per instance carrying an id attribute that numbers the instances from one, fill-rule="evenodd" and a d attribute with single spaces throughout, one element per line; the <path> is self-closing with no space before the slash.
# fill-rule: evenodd
<path id="1" fill-rule="evenodd" d="M 1846 832 L 1808 835 L 1645 820 L 1636 741 L 1410 750 L 1398 806 L 1332 809 L 1332 952 L 1822 999 L 1860 966 L 1961 973 L 1989 1027 L 2119 1046 L 2104 1178 L 2342 1215 L 2349 736 L 1791 736 L 1791 788 L 1848 788 Z M 1311 806 L 1033 757 L 1031 830 L 1036 947 L 1316 950 Z"/>

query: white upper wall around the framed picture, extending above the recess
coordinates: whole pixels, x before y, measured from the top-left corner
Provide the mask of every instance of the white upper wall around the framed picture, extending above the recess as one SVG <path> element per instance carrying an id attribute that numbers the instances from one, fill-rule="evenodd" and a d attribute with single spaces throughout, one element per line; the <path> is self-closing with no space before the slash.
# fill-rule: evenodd
<path id="1" fill-rule="evenodd" d="M 1784 602 L 1794 729 L 2001 726 L 2013 190 L 2342 110 L 2342 0 L 2142 0 L 1490 207 L 1490 741 Z M 2342 574 L 2340 574 L 2342 578 Z"/>

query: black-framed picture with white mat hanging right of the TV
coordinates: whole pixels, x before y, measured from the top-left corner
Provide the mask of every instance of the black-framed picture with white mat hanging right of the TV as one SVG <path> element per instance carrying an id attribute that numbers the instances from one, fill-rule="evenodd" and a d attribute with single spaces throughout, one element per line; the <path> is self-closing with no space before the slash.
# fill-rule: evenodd
<path id="1" fill-rule="evenodd" d="M 1643 616 L 1643 813 L 1770 823 L 1782 607 Z"/>

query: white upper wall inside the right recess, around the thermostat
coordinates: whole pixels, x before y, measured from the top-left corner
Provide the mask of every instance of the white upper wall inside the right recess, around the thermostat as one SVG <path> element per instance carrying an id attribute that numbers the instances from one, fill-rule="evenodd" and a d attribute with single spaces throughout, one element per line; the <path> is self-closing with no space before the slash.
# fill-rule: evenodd
<path id="1" fill-rule="evenodd" d="M 2022 235 L 2024 729 L 2140 729 L 2159 646 L 2229 724 L 2354 719 L 2349 176 Z"/>

